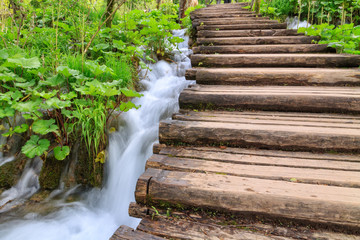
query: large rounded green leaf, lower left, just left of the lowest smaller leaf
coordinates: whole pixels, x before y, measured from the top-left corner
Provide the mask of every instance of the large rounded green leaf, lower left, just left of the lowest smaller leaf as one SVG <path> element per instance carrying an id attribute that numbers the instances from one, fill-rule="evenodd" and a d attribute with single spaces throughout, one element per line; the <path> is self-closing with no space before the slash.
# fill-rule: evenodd
<path id="1" fill-rule="evenodd" d="M 50 146 L 50 141 L 47 139 L 39 140 L 39 136 L 32 135 L 26 144 L 21 148 L 21 152 L 28 158 L 34 158 L 35 156 L 41 156 Z"/>

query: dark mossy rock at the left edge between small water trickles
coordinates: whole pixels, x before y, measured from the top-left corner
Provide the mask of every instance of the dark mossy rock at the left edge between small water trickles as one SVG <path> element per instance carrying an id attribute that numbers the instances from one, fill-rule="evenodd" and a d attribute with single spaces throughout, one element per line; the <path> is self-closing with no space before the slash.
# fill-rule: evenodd
<path id="1" fill-rule="evenodd" d="M 25 168 L 27 158 L 20 154 L 15 160 L 0 167 L 0 188 L 8 189 L 14 186 Z"/>

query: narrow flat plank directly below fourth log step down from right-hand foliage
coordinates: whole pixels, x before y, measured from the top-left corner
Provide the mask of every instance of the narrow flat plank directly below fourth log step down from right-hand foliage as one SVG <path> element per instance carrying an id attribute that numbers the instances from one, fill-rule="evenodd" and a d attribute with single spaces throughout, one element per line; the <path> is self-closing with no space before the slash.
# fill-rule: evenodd
<path id="1" fill-rule="evenodd" d="M 249 153 L 229 153 L 211 151 L 201 151 L 191 148 L 165 147 L 159 151 L 159 154 L 168 157 L 199 159 L 203 161 L 225 162 L 233 164 L 248 164 L 261 166 L 281 166 L 281 167 L 297 167 L 342 171 L 360 171 L 360 156 L 357 161 L 318 159 L 314 154 L 314 158 L 306 158 L 300 154 L 296 157 L 292 156 L 268 156 L 256 154 L 256 150 L 248 150 Z M 154 155 L 156 156 L 156 155 Z M 346 155 L 343 156 L 345 159 Z"/>

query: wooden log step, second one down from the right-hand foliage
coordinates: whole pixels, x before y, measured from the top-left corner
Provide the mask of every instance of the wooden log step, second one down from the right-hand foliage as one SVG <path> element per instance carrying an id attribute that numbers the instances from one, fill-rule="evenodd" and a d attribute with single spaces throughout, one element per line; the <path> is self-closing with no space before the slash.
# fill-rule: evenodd
<path id="1" fill-rule="evenodd" d="M 203 85 L 359 86 L 360 70 L 333 68 L 192 68 L 186 79 Z"/>

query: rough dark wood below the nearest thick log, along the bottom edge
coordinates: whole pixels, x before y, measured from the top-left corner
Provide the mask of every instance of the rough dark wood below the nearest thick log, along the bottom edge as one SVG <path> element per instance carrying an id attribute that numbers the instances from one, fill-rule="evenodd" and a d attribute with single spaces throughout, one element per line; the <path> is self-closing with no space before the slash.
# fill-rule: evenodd
<path id="1" fill-rule="evenodd" d="M 146 207 L 144 205 L 139 205 L 136 203 L 130 203 L 129 207 L 129 213 L 130 216 L 146 219 L 147 221 L 144 221 L 140 223 L 139 230 L 146 231 L 146 228 L 156 229 L 152 230 L 152 232 L 156 235 L 159 235 L 160 232 L 167 231 L 167 236 L 175 236 L 173 234 L 184 234 L 183 236 L 177 235 L 180 239 L 188 239 L 186 233 L 187 231 L 183 231 L 184 229 L 182 226 L 186 226 L 186 229 L 194 229 L 192 226 L 202 226 L 200 228 L 200 233 L 205 235 L 200 235 L 200 239 L 212 239 L 212 236 L 214 239 L 231 239 L 231 237 L 237 237 L 236 239 L 243 239 L 239 238 L 238 235 L 234 234 L 235 231 L 240 232 L 247 232 L 247 233 L 257 233 L 260 235 L 265 235 L 267 237 L 271 237 L 271 239 L 280 238 L 280 239 L 332 239 L 332 240 L 360 240 L 360 236 L 355 235 L 347 235 L 347 234 L 341 234 L 341 233 L 333 233 L 328 231 L 321 231 L 321 230 L 314 230 L 314 229 L 307 229 L 304 228 L 293 228 L 290 226 L 287 227 L 281 227 L 281 226 L 273 226 L 270 224 L 264 224 L 264 223 L 253 223 L 250 221 L 246 221 L 244 218 L 239 219 L 229 219 L 229 218 L 223 218 L 222 216 L 216 216 L 214 217 L 208 217 L 205 215 L 199 215 L 194 212 L 190 213 L 183 213 L 178 211 L 171 211 L 170 216 L 167 214 L 167 210 L 163 210 L 161 208 L 156 208 L 158 213 L 156 214 L 155 210 L 150 207 Z M 150 216 L 156 215 L 155 219 L 150 220 Z M 245 220 L 245 221 L 244 221 Z M 158 222 L 161 223 L 161 227 L 159 227 L 159 230 L 155 226 L 159 226 Z M 224 224 L 230 222 L 231 224 Z M 166 225 L 165 225 L 166 224 Z M 191 224 L 188 226 L 188 224 Z M 142 226 L 145 227 L 143 228 Z M 154 226 L 155 225 L 155 226 Z M 171 226 L 168 226 L 171 225 Z M 141 227 L 140 227 L 141 226 Z M 174 229 L 175 226 L 180 227 L 180 229 Z M 205 228 L 204 228 L 205 227 Z M 210 231 L 207 230 L 207 227 L 210 227 Z M 212 231 L 215 230 L 221 231 L 221 232 L 230 232 L 229 236 L 226 236 L 226 238 L 221 238 L 221 236 L 216 235 Z M 170 231 L 169 231 L 170 230 Z M 206 230 L 206 231 L 205 231 Z M 174 232 L 174 233 L 168 233 L 168 232 Z M 192 230 L 190 231 L 192 232 Z M 274 235 L 273 235 L 274 234 Z M 194 237 L 194 235 L 191 235 L 191 237 Z M 229 238 L 228 238 L 229 237 Z M 171 237 L 168 237 L 171 238 Z M 275 239 L 276 239 L 275 238 Z M 245 238 L 249 239 L 249 237 Z"/>

